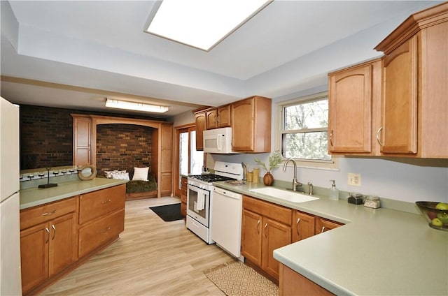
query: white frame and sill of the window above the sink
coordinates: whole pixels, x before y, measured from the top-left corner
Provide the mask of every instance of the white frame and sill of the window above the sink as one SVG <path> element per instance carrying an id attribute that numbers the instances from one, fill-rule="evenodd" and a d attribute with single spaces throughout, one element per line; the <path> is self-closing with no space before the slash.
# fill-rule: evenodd
<path id="1" fill-rule="evenodd" d="M 275 105 L 275 121 L 274 121 L 274 148 L 275 151 L 281 151 L 282 147 L 282 135 L 284 133 L 283 127 L 283 108 L 288 107 L 290 105 L 296 105 L 297 103 L 306 103 L 311 101 L 318 101 L 322 98 L 327 98 L 328 100 L 328 91 L 323 91 L 317 94 L 311 94 L 308 96 L 300 96 L 297 98 L 293 98 L 287 101 L 279 101 L 276 102 Z M 290 130 L 296 131 L 296 130 Z M 288 131 L 288 133 L 290 133 Z M 327 131 L 328 126 L 326 128 L 308 128 L 306 130 L 300 130 L 301 132 L 310 132 L 310 131 Z M 335 156 L 330 154 L 331 159 L 328 161 L 320 160 L 320 159 L 303 159 L 303 158 L 293 158 L 297 163 L 297 166 L 300 168 L 314 168 L 320 170 L 339 170 L 339 156 Z"/>

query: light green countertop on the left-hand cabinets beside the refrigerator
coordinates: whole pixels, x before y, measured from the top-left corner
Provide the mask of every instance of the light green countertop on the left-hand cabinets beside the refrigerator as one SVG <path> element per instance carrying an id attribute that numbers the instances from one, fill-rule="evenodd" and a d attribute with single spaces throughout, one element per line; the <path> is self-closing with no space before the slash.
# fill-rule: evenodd
<path id="1" fill-rule="evenodd" d="M 70 181 L 57 184 L 52 188 L 28 188 L 20 190 L 20 209 L 27 209 L 48 202 L 55 202 L 99 189 L 127 183 L 127 180 L 94 178 L 88 181 Z"/>

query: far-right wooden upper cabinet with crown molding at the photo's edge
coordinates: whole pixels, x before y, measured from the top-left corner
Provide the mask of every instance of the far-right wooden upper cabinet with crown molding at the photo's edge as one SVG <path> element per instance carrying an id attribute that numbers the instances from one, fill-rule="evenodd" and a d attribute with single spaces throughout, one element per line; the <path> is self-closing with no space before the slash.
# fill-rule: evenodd
<path id="1" fill-rule="evenodd" d="M 381 98 L 384 156 L 448 158 L 448 2 L 415 13 L 387 36 Z"/>

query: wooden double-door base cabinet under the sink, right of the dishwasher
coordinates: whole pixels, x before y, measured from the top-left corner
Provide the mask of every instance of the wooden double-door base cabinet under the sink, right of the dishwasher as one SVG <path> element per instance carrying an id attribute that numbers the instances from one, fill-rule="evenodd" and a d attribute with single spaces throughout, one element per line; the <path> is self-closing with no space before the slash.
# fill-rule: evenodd
<path id="1" fill-rule="evenodd" d="M 291 243 L 292 210 L 243 195 L 241 255 L 279 279 L 273 251 Z"/>

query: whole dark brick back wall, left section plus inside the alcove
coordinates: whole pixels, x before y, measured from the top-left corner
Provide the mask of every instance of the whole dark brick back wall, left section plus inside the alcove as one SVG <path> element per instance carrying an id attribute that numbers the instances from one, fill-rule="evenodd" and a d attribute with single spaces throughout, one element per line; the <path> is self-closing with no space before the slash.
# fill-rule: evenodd
<path id="1" fill-rule="evenodd" d="M 21 170 L 73 164 L 73 117 L 71 117 L 71 113 L 125 117 L 104 112 L 20 105 Z M 138 116 L 128 117 L 153 119 Z M 127 168 L 133 168 L 134 165 L 146 166 L 151 163 L 152 128 L 127 124 L 106 124 L 99 125 L 99 127 L 99 130 L 104 130 L 97 135 L 101 141 L 99 142 L 101 149 L 97 149 L 99 156 L 97 162 L 98 166 L 101 163 L 100 169 L 118 170 L 125 165 L 125 162 L 127 162 Z M 118 147 L 117 143 L 119 142 L 120 146 Z M 109 146 L 113 148 L 105 148 Z M 111 161 L 109 164 L 107 163 L 108 158 Z M 120 159 L 123 160 L 122 163 L 120 163 Z M 115 167 L 116 165 L 117 167 Z"/>

